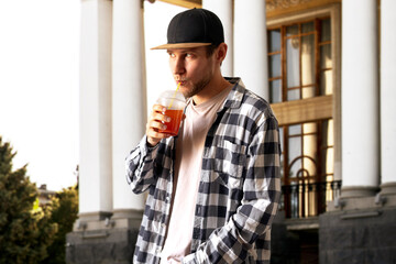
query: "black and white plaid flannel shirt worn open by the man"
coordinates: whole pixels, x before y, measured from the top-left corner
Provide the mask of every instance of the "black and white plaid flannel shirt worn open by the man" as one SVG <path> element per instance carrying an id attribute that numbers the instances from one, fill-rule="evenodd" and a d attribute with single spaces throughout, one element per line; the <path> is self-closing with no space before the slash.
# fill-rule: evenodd
<path id="1" fill-rule="evenodd" d="M 209 129 L 191 230 L 183 263 L 270 263 L 271 224 L 280 197 L 279 134 L 270 105 L 240 79 Z M 148 190 L 134 263 L 160 263 L 169 220 L 177 138 L 127 157 L 135 194 Z M 175 216 L 177 217 L 177 216 Z"/>

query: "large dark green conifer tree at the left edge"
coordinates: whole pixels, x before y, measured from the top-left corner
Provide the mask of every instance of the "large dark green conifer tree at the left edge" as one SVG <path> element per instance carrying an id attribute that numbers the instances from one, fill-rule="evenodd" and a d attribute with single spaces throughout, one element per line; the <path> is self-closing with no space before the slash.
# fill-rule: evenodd
<path id="1" fill-rule="evenodd" d="M 40 263 L 57 224 L 48 221 L 48 209 L 33 211 L 37 189 L 26 177 L 26 165 L 13 170 L 15 154 L 0 136 L 0 264 Z"/>

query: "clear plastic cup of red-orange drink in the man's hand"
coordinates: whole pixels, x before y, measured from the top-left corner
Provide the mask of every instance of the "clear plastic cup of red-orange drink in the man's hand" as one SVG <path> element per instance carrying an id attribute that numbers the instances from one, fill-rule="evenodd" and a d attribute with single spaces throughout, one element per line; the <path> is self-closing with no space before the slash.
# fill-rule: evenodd
<path id="1" fill-rule="evenodd" d="M 170 118 L 170 122 L 163 122 L 165 130 L 158 130 L 161 133 L 177 135 L 180 128 L 183 112 L 186 107 L 186 99 L 180 91 L 167 90 L 161 94 L 157 103 L 166 108 L 163 114 Z"/>

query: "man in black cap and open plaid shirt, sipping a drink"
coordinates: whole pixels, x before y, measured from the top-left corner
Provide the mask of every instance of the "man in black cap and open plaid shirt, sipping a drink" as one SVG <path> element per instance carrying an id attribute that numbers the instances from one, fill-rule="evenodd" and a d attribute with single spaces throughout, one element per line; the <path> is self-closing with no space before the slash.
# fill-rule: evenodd
<path id="1" fill-rule="evenodd" d="M 154 106 L 146 134 L 127 157 L 135 194 L 148 190 L 134 263 L 270 263 L 280 196 L 279 135 L 270 105 L 224 78 L 219 18 L 187 10 L 170 21 L 174 79 L 188 98 L 177 136 Z M 263 84 L 263 86 L 266 84 Z"/>

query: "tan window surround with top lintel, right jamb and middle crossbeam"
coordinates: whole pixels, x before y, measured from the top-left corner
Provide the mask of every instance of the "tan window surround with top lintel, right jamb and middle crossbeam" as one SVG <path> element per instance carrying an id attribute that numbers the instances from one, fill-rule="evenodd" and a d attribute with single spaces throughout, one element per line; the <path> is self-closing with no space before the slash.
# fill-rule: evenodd
<path id="1" fill-rule="evenodd" d="M 320 1 L 318 1 L 319 4 Z M 322 119 L 333 120 L 334 133 L 334 179 L 341 177 L 341 3 L 327 1 L 323 6 L 304 8 L 289 12 L 267 12 L 266 30 L 282 28 L 284 24 L 301 23 L 317 18 L 330 18 L 331 59 L 333 92 L 295 101 L 271 103 L 279 125 L 312 122 Z M 282 42 L 283 43 L 283 42 Z M 282 47 L 285 50 L 284 47 Z M 318 56 L 317 56 L 318 57 Z M 283 66 L 282 66 L 283 67 Z M 283 73 L 282 73 L 283 74 Z M 317 73 L 319 74 L 319 73 Z M 284 74 L 283 74 L 284 76 Z M 268 79 L 270 80 L 270 79 Z M 270 84 L 270 81 L 268 81 Z"/>

